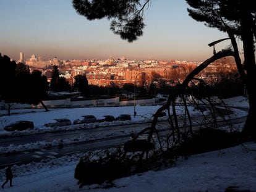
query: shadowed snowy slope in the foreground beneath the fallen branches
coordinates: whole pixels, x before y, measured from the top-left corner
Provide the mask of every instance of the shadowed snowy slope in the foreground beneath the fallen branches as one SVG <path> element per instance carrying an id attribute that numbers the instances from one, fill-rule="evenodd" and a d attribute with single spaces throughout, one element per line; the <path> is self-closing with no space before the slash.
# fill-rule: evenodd
<path id="1" fill-rule="evenodd" d="M 179 159 L 174 167 L 158 172 L 145 172 L 114 180 L 113 188 L 100 185 L 79 189 L 74 178 L 74 156 L 55 159 L 45 164 L 14 165 L 11 188 L 2 191 L 108 191 L 108 192 L 166 192 L 166 191 L 225 191 L 230 186 L 256 191 L 256 144 L 222 149 Z M 58 161 L 58 163 L 56 163 Z M 66 162 L 64 162 L 66 161 Z M 62 162 L 62 165 L 56 165 Z M 3 170 L 1 171 L 3 175 Z M 4 178 L 1 177 L 4 182 Z M 9 183 L 7 183 L 9 184 Z"/>

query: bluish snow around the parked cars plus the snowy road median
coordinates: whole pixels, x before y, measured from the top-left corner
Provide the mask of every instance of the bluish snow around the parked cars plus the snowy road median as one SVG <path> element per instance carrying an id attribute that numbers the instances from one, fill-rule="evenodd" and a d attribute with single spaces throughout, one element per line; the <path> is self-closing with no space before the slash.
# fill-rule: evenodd
<path id="1" fill-rule="evenodd" d="M 231 102 L 233 101 L 233 102 Z M 246 98 L 237 97 L 232 99 L 226 99 L 225 101 L 229 106 L 229 102 L 237 103 L 241 107 L 246 107 L 248 102 Z M 238 106 L 238 105 L 237 105 Z M 0 136 L 18 136 L 18 135 L 26 135 L 26 134 L 35 134 L 35 133 L 45 133 L 51 131 L 66 131 L 66 130 L 76 130 L 81 128 L 96 128 L 96 127 L 106 127 L 109 125 L 129 125 L 130 123 L 145 123 L 149 122 L 152 115 L 155 114 L 156 110 L 160 106 L 136 106 L 137 115 L 134 117 L 132 113 L 134 112 L 134 107 L 85 107 L 85 108 L 77 108 L 77 109 L 51 109 L 49 112 L 42 111 L 42 109 L 28 109 L 25 110 L 13 110 L 16 114 L 12 114 L 11 116 L 2 116 L 0 117 Z M 25 112 L 24 112 L 25 111 Z M 189 107 L 190 115 L 192 117 L 198 117 L 200 114 L 197 110 L 194 110 L 193 106 Z M 247 114 L 245 111 L 241 111 L 239 109 L 233 109 L 234 114 L 231 115 L 231 118 L 242 117 Z M 182 114 L 184 112 L 181 106 L 177 106 L 177 114 Z M 3 112 L 2 112 L 3 113 Z M 204 112 L 207 114 L 207 111 Z M 132 120 L 129 121 L 114 121 L 114 122 L 102 122 L 102 123 L 88 123 L 83 125 L 71 125 L 71 126 L 64 126 L 64 127 L 54 127 L 48 128 L 45 127 L 44 124 L 47 122 L 53 122 L 54 119 L 58 118 L 67 118 L 70 119 L 72 122 L 77 119 L 81 118 L 82 115 L 85 114 L 92 114 L 95 115 L 97 119 L 102 119 L 103 115 L 114 115 L 117 117 L 119 114 L 130 114 Z M 166 117 L 161 117 L 160 120 L 166 119 Z M 25 131 L 5 131 L 3 127 L 9 123 L 15 122 L 17 120 L 31 120 L 35 124 L 35 128 L 33 130 L 25 130 Z M 241 126 L 240 126 L 241 127 Z M 165 127 L 161 127 L 164 129 Z M 239 128 L 239 127 L 237 127 Z M 105 133 L 87 133 L 82 134 L 79 137 L 75 138 L 66 138 L 64 140 L 53 140 L 53 141 L 36 141 L 34 143 L 26 143 L 26 144 L 19 144 L 14 145 L 11 144 L 9 146 L 3 147 L 0 146 L 0 154 L 6 154 L 10 152 L 18 152 L 18 151 L 28 151 L 28 150 L 35 150 L 40 148 L 46 148 L 47 146 L 58 146 L 61 144 L 71 144 L 71 143 L 80 143 L 83 141 L 89 140 L 97 140 L 103 138 L 114 138 L 117 136 L 127 136 L 130 135 L 131 130 L 122 130 L 122 131 L 115 131 L 112 132 L 105 132 Z"/>

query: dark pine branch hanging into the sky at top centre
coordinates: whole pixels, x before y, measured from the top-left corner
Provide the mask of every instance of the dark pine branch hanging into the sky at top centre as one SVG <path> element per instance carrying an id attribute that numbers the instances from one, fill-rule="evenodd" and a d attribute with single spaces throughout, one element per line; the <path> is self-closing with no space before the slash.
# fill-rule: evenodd
<path id="1" fill-rule="evenodd" d="M 141 4 L 139 0 L 73 0 L 73 6 L 88 20 L 111 20 L 110 29 L 123 40 L 132 42 L 143 35 L 143 9 L 150 0 Z"/>

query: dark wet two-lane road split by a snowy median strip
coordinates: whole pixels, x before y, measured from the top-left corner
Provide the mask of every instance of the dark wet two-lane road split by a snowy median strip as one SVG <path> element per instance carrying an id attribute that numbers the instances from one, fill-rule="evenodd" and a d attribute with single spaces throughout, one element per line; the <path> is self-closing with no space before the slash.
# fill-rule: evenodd
<path id="1" fill-rule="evenodd" d="M 233 124 L 245 122 L 246 117 L 236 118 L 232 120 Z M 161 122 L 163 125 L 163 122 Z M 219 125 L 226 125 L 225 121 L 218 122 Z M 119 125 L 113 127 L 101 127 L 101 128 L 90 128 L 85 130 L 74 130 L 74 131 L 62 131 L 59 133 L 42 133 L 38 135 L 26 135 L 14 138 L 1 138 L 0 146 L 9 146 L 12 144 L 26 144 L 35 141 L 52 141 L 56 139 L 74 138 L 80 136 L 82 133 L 114 133 L 122 130 L 142 130 L 142 128 L 148 127 L 148 123 L 132 124 L 132 125 Z M 196 127 L 196 126 L 195 126 Z M 55 159 L 61 156 L 74 154 L 78 152 L 95 151 L 96 149 L 104 149 L 110 146 L 115 146 L 129 140 L 129 136 L 120 136 L 118 138 L 109 138 L 105 140 L 94 140 L 87 141 L 78 144 L 69 144 L 64 148 L 50 148 L 40 149 L 33 152 L 21 152 L 17 154 L 11 154 L 9 156 L 0 155 L 0 169 L 6 167 L 9 164 L 28 164 L 30 162 L 40 162 L 42 159 Z"/>

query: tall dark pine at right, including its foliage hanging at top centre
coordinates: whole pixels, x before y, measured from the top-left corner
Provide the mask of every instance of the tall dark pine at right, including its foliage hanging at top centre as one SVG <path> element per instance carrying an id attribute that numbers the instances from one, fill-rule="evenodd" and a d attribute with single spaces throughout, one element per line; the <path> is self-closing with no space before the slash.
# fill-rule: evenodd
<path id="1" fill-rule="evenodd" d="M 150 4 L 150 0 L 73 0 L 75 10 L 89 20 L 107 18 L 111 20 L 111 30 L 121 35 L 121 38 L 132 42 L 143 34 L 143 10 Z M 247 86 L 249 95 L 249 113 L 243 133 L 245 137 L 256 138 L 256 64 L 255 64 L 255 38 L 256 38 L 256 7 L 254 1 L 249 0 L 186 0 L 191 9 L 189 15 L 204 22 L 208 27 L 218 28 L 228 33 L 233 51 L 220 52 L 218 56 L 209 58 L 208 61 L 216 61 L 226 56 L 233 56 L 237 70 L 242 81 Z M 239 56 L 239 49 L 235 36 L 243 43 L 244 63 Z M 214 43 L 212 44 L 214 46 Z M 216 55 L 216 51 L 214 52 Z M 208 64 L 209 65 L 209 64 Z M 198 73 L 199 67 L 195 70 Z M 195 72 L 191 72 L 195 74 Z M 192 78 L 187 78 L 192 80 Z M 189 83 L 185 81 L 186 83 Z M 171 103 L 169 103 L 171 104 Z M 164 107 L 165 108 L 165 107 Z M 163 109 L 163 108 L 162 108 Z M 156 115 L 157 116 L 157 115 Z M 156 117 L 155 116 L 155 117 Z M 155 124 L 155 123 L 153 123 Z M 153 125 L 152 125 L 153 126 Z"/>

